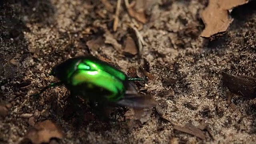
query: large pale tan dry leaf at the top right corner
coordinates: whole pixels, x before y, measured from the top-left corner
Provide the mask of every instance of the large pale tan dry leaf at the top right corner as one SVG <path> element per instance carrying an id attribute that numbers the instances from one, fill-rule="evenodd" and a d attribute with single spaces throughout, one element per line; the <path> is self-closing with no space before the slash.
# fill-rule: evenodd
<path id="1" fill-rule="evenodd" d="M 209 38 L 215 34 L 226 32 L 233 19 L 228 10 L 246 4 L 249 0 L 209 0 L 206 9 L 201 13 L 205 28 L 200 36 Z"/>

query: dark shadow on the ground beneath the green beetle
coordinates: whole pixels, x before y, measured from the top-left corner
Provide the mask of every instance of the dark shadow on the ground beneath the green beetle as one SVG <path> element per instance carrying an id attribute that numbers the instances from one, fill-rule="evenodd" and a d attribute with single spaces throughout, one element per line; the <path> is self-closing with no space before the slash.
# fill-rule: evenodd
<path id="1" fill-rule="evenodd" d="M 62 107 L 58 104 L 57 97 L 51 96 L 49 102 L 51 103 L 51 109 L 54 110 L 52 115 L 56 119 L 61 117 L 64 121 L 68 122 L 76 132 L 81 129 L 89 128 L 92 132 L 103 133 L 112 128 L 120 129 L 124 120 L 124 114 L 128 110 L 125 107 L 104 107 L 103 110 L 98 110 L 89 104 L 86 104 L 83 100 L 66 94 L 67 104 Z M 122 127 L 123 128 L 123 127 Z"/>

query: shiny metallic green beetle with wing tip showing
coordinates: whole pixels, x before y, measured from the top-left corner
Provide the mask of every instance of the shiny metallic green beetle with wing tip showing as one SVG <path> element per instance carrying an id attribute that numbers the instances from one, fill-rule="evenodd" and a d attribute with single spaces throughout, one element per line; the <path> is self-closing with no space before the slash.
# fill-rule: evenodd
<path id="1" fill-rule="evenodd" d="M 94 56 L 70 58 L 56 65 L 50 75 L 60 82 L 52 83 L 40 90 L 64 84 L 70 96 L 80 96 L 90 104 L 98 106 L 128 106 L 149 108 L 156 104 L 150 96 L 138 94 L 132 81 L 141 78 L 128 78 L 124 72 Z"/>

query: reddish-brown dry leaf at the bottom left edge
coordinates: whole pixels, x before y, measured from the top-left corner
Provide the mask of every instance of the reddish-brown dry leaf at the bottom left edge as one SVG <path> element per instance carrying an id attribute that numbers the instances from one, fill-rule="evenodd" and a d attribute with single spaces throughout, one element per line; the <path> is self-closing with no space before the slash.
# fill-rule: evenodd
<path id="1" fill-rule="evenodd" d="M 63 137 L 62 130 L 51 120 L 36 123 L 26 136 L 33 144 L 48 143 L 51 138 L 62 139 Z"/>

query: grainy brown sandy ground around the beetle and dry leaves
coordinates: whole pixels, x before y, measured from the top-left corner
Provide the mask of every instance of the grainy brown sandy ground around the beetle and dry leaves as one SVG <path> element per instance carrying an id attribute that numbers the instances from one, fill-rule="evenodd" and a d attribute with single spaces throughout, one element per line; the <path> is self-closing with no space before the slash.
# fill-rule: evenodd
<path id="1" fill-rule="evenodd" d="M 116 5 L 114 0 L 111 2 Z M 227 34 L 212 42 L 199 37 L 204 28 L 199 18 L 199 11 L 206 6 L 204 0 L 181 0 L 167 7 L 160 6 L 159 17 L 140 31 L 146 42 L 142 58 L 148 60 L 150 73 L 156 76 L 145 88 L 160 100 L 164 116 L 172 123 L 160 118 L 153 108 L 150 120 L 131 132 L 122 124 L 99 120 L 82 123 L 77 128 L 76 118 L 61 117 L 68 96 L 64 87 L 48 90 L 38 100 L 30 98 L 54 80 L 47 74 L 55 64 L 86 54 L 86 41 L 104 34 L 98 30 L 88 36 L 83 34 L 86 28 L 111 25 L 107 18 L 97 15 L 100 10 L 110 15 L 104 11 L 104 5 L 95 3 L 97 8 L 91 6 L 90 0 L 10 0 L 1 7 L 0 100 L 10 106 L 9 114 L 0 117 L 1 144 L 22 140 L 31 128 L 30 116 L 35 122 L 54 120 L 64 131 L 65 138 L 60 143 L 65 144 L 169 144 L 173 138 L 182 144 L 253 144 L 256 141 L 256 101 L 234 96 L 231 104 L 227 104 L 228 90 L 220 73 L 256 77 L 255 2 L 234 9 L 234 22 Z M 114 34 L 119 40 L 129 21 L 122 7 L 119 35 Z M 190 24 L 197 25 L 195 32 L 185 34 Z M 121 58 L 117 50 L 104 43 L 92 54 L 110 58 L 124 72 L 130 66 L 139 66 L 138 60 Z M 162 86 L 163 80 L 184 74 L 188 75 L 175 85 Z M 159 96 L 170 88 L 174 90 L 172 96 Z M 47 101 L 50 97 L 58 98 L 59 108 Z M 186 102 L 192 102 L 197 108 L 188 108 L 184 105 Z M 213 138 L 205 132 L 206 140 L 200 140 L 174 130 L 173 124 L 191 122 L 198 126 L 202 120 L 208 124 Z"/>

